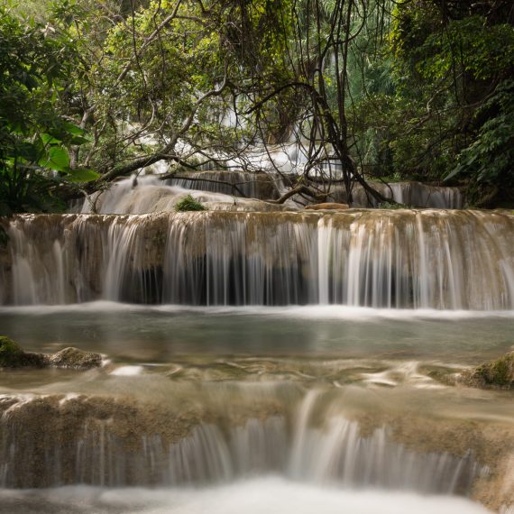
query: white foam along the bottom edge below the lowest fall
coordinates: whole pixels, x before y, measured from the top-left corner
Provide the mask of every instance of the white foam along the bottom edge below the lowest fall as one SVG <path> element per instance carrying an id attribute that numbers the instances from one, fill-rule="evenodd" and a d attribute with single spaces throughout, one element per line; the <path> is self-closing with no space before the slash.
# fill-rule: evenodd
<path id="1" fill-rule="evenodd" d="M 1 512 L 139 514 L 486 514 L 471 500 L 408 492 L 351 491 L 262 477 L 202 489 L 1 491 Z"/>

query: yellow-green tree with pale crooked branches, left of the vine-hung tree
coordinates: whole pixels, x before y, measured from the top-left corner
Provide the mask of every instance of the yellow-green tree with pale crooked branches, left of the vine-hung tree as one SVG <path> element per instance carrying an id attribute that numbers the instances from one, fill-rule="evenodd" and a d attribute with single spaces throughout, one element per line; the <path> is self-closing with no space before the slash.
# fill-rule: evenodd
<path id="1" fill-rule="evenodd" d="M 240 133 L 222 120 L 238 73 L 225 37 L 231 9 L 161 1 L 112 18 L 80 91 L 81 126 L 94 137 L 77 160 L 98 170 L 98 184 L 163 160 L 192 166 L 218 148 L 237 151 Z"/>

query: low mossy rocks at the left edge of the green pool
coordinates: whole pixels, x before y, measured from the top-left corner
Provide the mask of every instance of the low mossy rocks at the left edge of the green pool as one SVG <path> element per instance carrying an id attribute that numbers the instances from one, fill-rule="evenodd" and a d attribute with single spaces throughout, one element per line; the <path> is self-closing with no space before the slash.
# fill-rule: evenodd
<path id="1" fill-rule="evenodd" d="M 100 353 L 64 348 L 57 353 L 24 352 L 22 347 L 5 335 L 0 335 L 0 368 L 69 368 L 89 370 L 102 365 Z"/>

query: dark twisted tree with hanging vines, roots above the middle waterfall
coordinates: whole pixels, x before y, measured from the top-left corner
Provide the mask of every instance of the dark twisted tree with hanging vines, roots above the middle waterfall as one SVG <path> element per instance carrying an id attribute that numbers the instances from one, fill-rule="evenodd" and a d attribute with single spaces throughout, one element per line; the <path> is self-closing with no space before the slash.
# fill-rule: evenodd
<path id="1" fill-rule="evenodd" d="M 247 114 L 256 115 L 263 133 L 269 125 L 270 105 L 296 105 L 289 111 L 288 123 L 294 127 L 293 141 L 306 160 L 298 192 L 308 194 L 310 188 L 311 197 L 320 197 L 334 182 L 342 181 L 350 203 L 354 184 L 371 197 L 385 200 L 357 164 L 357 134 L 348 115 L 353 106 L 350 71 L 358 54 L 355 44 L 363 32 L 369 38 L 378 35 L 382 14 L 377 25 L 371 23 L 367 2 L 294 0 L 284 4 L 282 8 L 289 7 L 290 13 L 281 18 L 289 19 L 291 25 L 289 31 L 287 27 L 282 31 L 287 41 L 280 65 L 286 71 L 280 70 L 275 79 L 252 91 Z M 380 2 L 372 5 L 378 7 Z"/>

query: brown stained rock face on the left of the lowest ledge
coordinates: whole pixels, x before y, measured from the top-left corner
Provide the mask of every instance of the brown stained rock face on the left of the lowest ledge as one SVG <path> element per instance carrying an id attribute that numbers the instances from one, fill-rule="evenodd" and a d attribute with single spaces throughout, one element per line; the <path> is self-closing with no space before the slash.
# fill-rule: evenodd
<path id="1" fill-rule="evenodd" d="M 141 403 L 130 396 L 4 397 L 0 460 L 9 469 L 4 486 L 167 483 L 170 445 L 188 437 L 193 428 L 202 423 L 234 427 L 275 411 L 273 405 L 254 405 L 236 417 L 223 418 L 216 409 L 195 402 L 177 408 L 167 402 Z"/>

